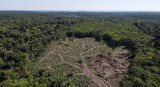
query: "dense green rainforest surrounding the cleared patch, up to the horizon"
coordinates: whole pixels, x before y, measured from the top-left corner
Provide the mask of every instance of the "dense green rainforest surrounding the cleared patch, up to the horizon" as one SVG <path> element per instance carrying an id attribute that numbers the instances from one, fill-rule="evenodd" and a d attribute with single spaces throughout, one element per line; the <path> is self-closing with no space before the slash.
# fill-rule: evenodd
<path id="1" fill-rule="evenodd" d="M 0 12 L 0 86 L 86 87 L 72 75 L 49 78 L 30 66 L 51 42 L 66 37 L 95 38 L 112 49 L 125 46 L 131 65 L 119 86 L 159 87 L 160 13 L 36 11 Z"/>

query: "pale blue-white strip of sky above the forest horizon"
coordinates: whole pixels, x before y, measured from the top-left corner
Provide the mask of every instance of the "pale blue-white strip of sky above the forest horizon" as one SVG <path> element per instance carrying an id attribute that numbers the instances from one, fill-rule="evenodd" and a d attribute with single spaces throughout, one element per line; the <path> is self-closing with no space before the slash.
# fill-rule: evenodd
<path id="1" fill-rule="evenodd" d="M 0 10 L 160 11 L 160 0 L 0 0 Z"/>

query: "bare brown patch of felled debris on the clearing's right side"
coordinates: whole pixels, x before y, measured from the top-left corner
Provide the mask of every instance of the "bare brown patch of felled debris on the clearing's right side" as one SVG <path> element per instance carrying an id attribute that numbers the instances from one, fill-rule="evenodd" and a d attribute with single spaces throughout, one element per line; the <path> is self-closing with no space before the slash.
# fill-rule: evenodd
<path id="1" fill-rule="evenodd" d="M 108 87 L 118 87 L 130 65 L 128 57 L 129 52 L 123 49 L 115 49 L 113 53 L 99 54 L 91 62 L 91 72 L 110 83 Z"/>

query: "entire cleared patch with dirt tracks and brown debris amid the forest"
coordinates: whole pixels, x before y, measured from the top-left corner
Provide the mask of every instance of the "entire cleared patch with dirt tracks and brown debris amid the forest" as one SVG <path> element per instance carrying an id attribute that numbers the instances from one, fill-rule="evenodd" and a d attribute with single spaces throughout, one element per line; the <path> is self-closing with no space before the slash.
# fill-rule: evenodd
<path id="1" fill-rule="evenodd" d="M 112 50 L 92 38 L 66 38 L 52 42 L 37 65 L 51 77 L 68 76 L 77 84 L 115 87 L 130 65 L 128 51 Z"/>

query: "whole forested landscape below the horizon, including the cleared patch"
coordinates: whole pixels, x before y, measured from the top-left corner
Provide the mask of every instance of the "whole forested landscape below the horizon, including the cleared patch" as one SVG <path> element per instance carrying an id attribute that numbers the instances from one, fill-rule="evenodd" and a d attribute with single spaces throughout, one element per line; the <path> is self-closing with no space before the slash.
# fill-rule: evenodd
<path id="1" fill-rule="evenodd" d="M 160 86 L 160 13 L 0 12 L 0 87 L 107 86 Z"/>

